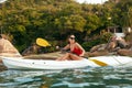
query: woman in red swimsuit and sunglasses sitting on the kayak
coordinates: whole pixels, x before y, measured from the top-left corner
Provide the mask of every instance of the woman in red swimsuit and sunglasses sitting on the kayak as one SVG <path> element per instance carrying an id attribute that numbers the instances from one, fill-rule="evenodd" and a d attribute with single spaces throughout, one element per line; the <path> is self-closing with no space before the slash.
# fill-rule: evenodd
<path id="1" fill-rule="evenodd" d="M 68 37 L 68 44 L 63 48 L 65 51 L 69 50 L 63 57 L 57 58 L 57 61 L 73 59 L 80 61 L 84 57 L 85 50 L 75 41 L 75 35 Z"/>

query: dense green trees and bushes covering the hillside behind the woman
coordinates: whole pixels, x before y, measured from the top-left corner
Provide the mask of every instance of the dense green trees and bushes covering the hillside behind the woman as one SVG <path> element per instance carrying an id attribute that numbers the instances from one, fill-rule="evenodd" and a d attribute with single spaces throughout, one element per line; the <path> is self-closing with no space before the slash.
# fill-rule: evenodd
<path id="1" fill-rule="evenodd" d="M 109 0 L 103 4 L 79 4 L 75 0 L 8 0 L 0 8 L 2 32 L 20 52 L 36 37 L 46 38 L 53 46 L 63 46 L 70 33 L 89 51 L 108 41 L 105 30 L 109 25 L 132 28 L 132 0 L 118 3 Z"/>

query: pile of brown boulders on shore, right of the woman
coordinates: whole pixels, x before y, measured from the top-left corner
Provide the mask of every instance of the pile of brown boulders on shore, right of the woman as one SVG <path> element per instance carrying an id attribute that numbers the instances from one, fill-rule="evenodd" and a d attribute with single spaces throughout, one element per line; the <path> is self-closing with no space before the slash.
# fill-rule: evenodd
<path id="1" fill-rule="evenodd" d="M 127 40 L 127 41 L 125 41 Z M 86 56 L 125 55 L 132 56 L 132 33 L 123 37 L 112 36 L 108 44 L 94 46 Z"/>

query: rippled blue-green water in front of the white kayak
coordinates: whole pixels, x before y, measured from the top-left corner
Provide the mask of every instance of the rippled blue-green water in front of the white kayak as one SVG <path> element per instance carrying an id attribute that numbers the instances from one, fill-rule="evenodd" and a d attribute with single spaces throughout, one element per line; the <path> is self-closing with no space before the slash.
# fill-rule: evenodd
<path id="1" fill-rule="evenodd" d="M 132 88 L 132 68 L 4 70 L 0 88 Z"/>

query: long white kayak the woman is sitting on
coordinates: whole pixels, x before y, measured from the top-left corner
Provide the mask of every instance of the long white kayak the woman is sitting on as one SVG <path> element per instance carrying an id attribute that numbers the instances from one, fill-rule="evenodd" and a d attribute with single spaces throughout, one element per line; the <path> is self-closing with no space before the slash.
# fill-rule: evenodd
<path id="1" fill-rule="evenodd" d="M 3 64 L 13 69 L 72 69 L 102 66 L 132 66 L 129 56 L 97 56 L 81 61 L 24 59 L 24 57 L 2 57 Z"/>

